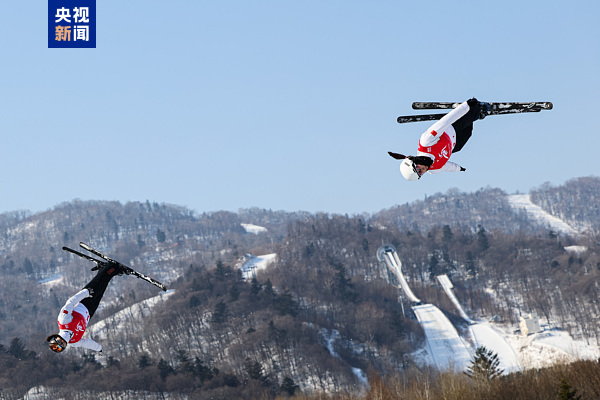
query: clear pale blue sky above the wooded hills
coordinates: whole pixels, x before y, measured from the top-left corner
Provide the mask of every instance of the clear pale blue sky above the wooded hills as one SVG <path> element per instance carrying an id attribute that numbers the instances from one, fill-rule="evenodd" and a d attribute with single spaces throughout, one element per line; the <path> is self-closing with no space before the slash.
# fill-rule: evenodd
<path id="1" fill-rule="evenodd" d="M 2 5 L 0 212 L 156 201 L 376 212 L 450 188 L 598 175 L 600 2 L 98 0 L 96 49 L 48 49 L 47 1 Z M 552 101 L 489 117 L 406 182 L 413 101 Z"/>

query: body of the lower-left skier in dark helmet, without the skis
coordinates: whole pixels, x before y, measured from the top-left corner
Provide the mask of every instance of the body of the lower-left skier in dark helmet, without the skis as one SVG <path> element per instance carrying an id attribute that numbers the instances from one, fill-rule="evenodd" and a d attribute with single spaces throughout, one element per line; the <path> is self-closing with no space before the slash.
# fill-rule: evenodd
<path id="1" fill-rule="evenodd" d="M 68 344 L 102 353 L 102 346 L 99 343 L 92 339 L 83 339 L 82 336 L 90 318 L 96 312 L 110 280 L 123 273 L 127 273 L 127 271 L 118 265 L 101 266 L 94 279 L 67 300 L 58 315 L 58 334 L 50 335 L 46 339 L 52 351 L 60 353 L 67 348 Z"/>

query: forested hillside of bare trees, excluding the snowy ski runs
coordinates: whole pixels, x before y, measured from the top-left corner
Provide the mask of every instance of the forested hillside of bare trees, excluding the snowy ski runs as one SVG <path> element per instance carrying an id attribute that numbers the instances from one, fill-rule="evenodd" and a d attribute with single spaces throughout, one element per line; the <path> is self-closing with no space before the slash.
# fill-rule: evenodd
<path id="1" fill-rule="evenodd" d="M 497 316 L 516 327 L 521 313 L 535 311 L 545 323 L 597 343 L 598 220 L 593 209 L 578 213 L 561 204 L 597 198 L 600 190 L 589 189 L 597 181 L 582 178 L 532 194 L 546 199 L 547 210 L 570 210 L 561 212 L 588 227 L 578 237 L 532 225 L 498 189 L 451 191 L 372 216 L 260 209 L 198 215 L 150 202 L 81 201 L 34 215 L 3 214 L 0 387 L 15 398 L 34 386 L 60 388 L 65 378 L 72 393 L 149 390 L 228 399 L 359 391 L 366 373 L 418 368 L 415 351 L 424 343 L 410 304 L 377 261 L 385 243 L 398 249 L 419 298 L 459 327 L 435 275 L 451 276 L 474 318 Z M 580 196 L 555 194 L 563 190 Z M 267 231 L 247 233 L 242 223 Z M 127 276 L 111 283 L 92 321 L 106 328 L 90 328 L 105 347 L 101 364 L 81 349 L 53 354 L 44 343 L 64 301 L 93 276 L 91 263 L 61 250 L 79 241 L 173 290 L 163 301 L 128 308 L 158 290 Z M 249 253 L 276 253 L 277 261 L 243 280 L 238 266 Z M 69 398 L 63 389 L 61 396 Z"/>

